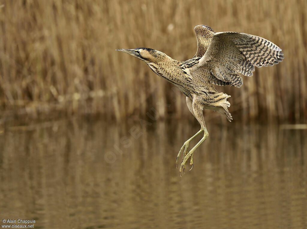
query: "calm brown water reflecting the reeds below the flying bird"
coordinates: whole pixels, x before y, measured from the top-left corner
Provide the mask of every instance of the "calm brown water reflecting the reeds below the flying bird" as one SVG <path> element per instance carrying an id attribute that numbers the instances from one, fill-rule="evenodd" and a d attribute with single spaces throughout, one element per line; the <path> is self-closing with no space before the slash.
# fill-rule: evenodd
<path id="1" fill-rule="evenodd" d="M 0 133 L 0 217 L 34 228 L 307 228 L 307 131 L 208 124 L 182 178 L 177 122 L 57 121 Z M 197 139 L 198 140 L 198 139 Z M 196 144 L 197 140 L 193 143 Z"/>

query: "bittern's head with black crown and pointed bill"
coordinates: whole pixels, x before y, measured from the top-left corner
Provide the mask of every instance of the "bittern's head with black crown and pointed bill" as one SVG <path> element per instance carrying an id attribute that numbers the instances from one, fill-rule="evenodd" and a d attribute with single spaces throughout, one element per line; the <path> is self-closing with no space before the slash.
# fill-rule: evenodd
<path id="1" fill-rule="evenodd" d="M 145 61 L 146 63 L 161 61 L 165 54 L 150 48 L 136 48 L 136 49 L 117 49 L 123 53 L 128 53 L 131 56 L 137 57 L 138 59 Z"/>

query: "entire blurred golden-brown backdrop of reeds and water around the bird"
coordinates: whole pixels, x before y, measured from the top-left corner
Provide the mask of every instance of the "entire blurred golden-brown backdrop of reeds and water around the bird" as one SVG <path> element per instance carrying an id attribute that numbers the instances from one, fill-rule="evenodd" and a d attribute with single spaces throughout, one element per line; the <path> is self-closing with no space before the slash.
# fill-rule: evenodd
<path id="1" fill-rule="evenodd" d="M 306 13 L 305 0 L 0 0 L 0 217 L 306 228 Z M 285 59 L 241 88 L 216 87 L 234 120 L 205 111 L 209 138 L 181 178 L 177 153 L 199 130 L 185 96 L 115 49 L 187 60 L 199 24 L 264 37 Z"/>

